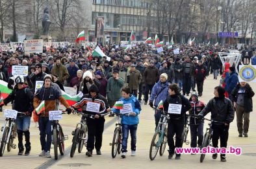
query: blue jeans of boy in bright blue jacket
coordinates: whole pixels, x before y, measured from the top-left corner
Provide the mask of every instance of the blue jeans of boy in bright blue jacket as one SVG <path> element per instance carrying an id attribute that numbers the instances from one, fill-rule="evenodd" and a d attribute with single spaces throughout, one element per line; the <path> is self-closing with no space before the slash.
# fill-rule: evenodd
<path id="1" fill-rule="evenodd" d="M 138 124 L 134 124 L 134 125 L 122 124 L 122 133 L 123 133 L 122 152 L 127 152 L 127 140 L 129 136 L 129 130 L 131 133 L 131 150 L 136 151 L 137 127 L 138 127 Z"/>

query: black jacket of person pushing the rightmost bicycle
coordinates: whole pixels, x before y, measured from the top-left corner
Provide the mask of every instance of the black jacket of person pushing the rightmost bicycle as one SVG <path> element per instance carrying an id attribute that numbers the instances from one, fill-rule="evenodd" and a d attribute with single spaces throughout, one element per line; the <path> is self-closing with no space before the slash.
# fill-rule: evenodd
<path id="1" fill-rule="evenodd" d="M 218 122 L 225 122 L 227 124 L 234 120 L 235 110 L 234 106 L 229 98 L 212 98 L 207 106 L 201 111 L 203 116 L 211 112 L 211 119 Z M 222 123 L 214 124 L 222 124 Z"/>

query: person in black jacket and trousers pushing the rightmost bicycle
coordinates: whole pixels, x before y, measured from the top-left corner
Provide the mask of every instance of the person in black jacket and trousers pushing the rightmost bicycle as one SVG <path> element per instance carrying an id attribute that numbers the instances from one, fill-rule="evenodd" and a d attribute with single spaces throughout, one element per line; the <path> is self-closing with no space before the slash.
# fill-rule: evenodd
<path id="1" fill-rule="evenodd" d="M 198 117 L 204 117 L 211 111 L 212 122 L 212 146 L 218 148 L 218 139 L 220 137 L 220 147 L 227 148 L 227 139 L 229 137 L 229 123 L 234 120 L 234 106 L 225 98 L 225 89 L 217 86 L 214 88 L 215 97 L 212 98 L 207 106 L 198 114 Z M 217 158 L 217 153 L 212 154 L 212 159 Z M 225 154 L 220 155 L 220 160 L 225 162 Z"/>

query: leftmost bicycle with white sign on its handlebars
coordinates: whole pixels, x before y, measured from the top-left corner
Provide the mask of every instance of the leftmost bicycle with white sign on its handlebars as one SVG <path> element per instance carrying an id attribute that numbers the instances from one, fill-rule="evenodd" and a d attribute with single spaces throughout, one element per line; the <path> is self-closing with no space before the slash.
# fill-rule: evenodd
<path id="1" fill-rule="evenodd" d="M 10 152 L 10 150 L 16 148 L 16 144 L 14 144 L 14 139 L 17 136 L 17 130 L 16 130 L 16 117 L 18 114 L 25 115 L 25 113 L 18 112 L 16 110 L 12 109 L 3 109 L 5 111 L 5 124 L 1 128 L 2 131 L 2 139 L 1 139 L 1 145 L 0 145 L 0 157 L 3 156 L 3 153 L 5 152 L 5 146 L 7 144 L 7 152 Z"/>

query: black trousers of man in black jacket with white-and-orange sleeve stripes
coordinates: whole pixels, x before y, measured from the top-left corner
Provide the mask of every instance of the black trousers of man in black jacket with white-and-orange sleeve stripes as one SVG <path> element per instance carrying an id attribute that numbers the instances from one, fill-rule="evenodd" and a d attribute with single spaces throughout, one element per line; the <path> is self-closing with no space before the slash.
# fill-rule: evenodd
<path id="1" fill-rule="evenodd" d="M 88 141 L 87 150 L 94 150 L 94 142 L 96 151 L 101 150 L 102 145 L 102 135 L 104 131 L 105 118 L 86 118 L 88 126 Z"/>

